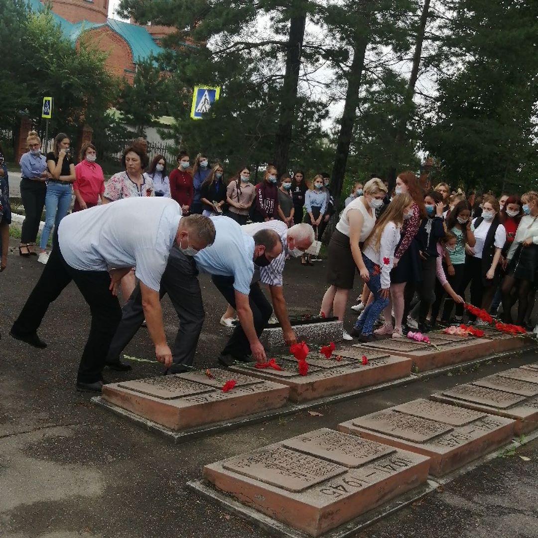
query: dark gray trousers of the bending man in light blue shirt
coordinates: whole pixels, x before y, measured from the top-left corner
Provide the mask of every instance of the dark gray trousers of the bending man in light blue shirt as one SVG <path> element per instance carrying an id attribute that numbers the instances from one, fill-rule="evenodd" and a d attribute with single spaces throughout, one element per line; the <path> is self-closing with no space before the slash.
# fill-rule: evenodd
<path id="1" fill-rule="evenodd" d="M 172 349 L 172 373 L 183 372 L 188 366 L 192 366 L 202 330 L 205 314 L 197 275 L 198 270 L 193 258 L 185 256 L 174 246 L 161 278 L 160 289 L 160 298 L 168 294 L 179 318 L 179 330 Z M 107 362 L 118 360 L 143 321 L 142 294 L 140 285 L 137 284 L 123 307 L 122 321 L 110 344 Z"/>

